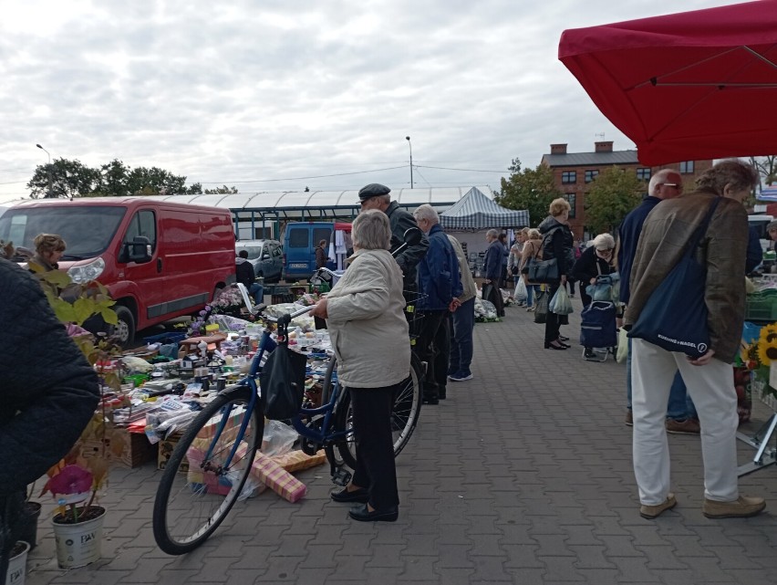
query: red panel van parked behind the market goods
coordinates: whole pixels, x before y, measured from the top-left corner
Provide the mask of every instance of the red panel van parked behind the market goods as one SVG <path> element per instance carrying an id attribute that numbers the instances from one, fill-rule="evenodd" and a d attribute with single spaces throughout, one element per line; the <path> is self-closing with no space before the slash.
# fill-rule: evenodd
<path id="1" fill-rule="evenodd" d="M 227 209 L 145 197 L 46 199 L 0 216 L 0 239 L 34 249 L 41 233 L 61 235 L 59 267 L 76 282 L 98 280 L 116 300 L 117 335 L 201 309 L 234 282 L 234 232 Z"/>

